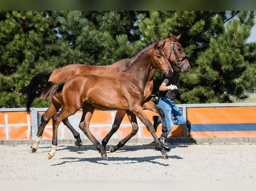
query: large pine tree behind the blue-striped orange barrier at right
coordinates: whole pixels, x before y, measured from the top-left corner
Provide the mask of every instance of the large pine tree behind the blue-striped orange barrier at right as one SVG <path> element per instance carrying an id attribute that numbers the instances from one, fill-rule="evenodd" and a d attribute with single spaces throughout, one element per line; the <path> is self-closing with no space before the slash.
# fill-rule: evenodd
<path id="1" fill-rule="evenodd" d="M 246 56 L 254 22 L 254 12 L 223 12 L 212 19 L 220 30 L 213 33 L 205 48 L 196 52 L 194 70 L 181 75 L 183 88 L 180 100 L 186 103 L 234 102 L 245 100 L 255 82 L 255 73 L 248 79 Z M 218 21 L 218 22 L 217 22 Z M 255 51 L 255 49 L 254 49 Z M 255 57 L 254 57 L 255 59 Z M 247 83 L 248 79 L 250 83 Z M 247 83 L 247 85 L 246 85 Z"/>

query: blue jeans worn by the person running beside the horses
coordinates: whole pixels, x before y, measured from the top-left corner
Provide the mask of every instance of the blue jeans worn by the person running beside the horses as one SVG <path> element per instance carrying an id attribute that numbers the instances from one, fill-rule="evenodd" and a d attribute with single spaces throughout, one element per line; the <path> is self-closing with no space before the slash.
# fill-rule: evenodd
<path id="1" fill-rule="evenodd" d="M 182 111 L 177 107 L 177 105 L 175 105 L 174 101 L 167 97 L 158 97 L 157 105 L 163 109 L 165 115 L 167 136 L 171 132 L 173 124 L 184 125 L 186 123 L 186 119 L 184 118 Z"/>

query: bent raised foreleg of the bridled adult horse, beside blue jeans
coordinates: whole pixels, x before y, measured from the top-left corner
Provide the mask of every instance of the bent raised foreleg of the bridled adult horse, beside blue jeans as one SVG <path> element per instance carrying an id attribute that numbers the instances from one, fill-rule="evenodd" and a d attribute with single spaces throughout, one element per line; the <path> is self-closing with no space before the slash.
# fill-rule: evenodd
<path id="1" fill-rule="evenodd" d="M 162 132 L 163 135 L 160 136 L 160 141 L 162 141 L 163 144 L 167 145 L 167 125 L 165 121 L 165 115 L 162 110 L 162 108 L 158 107 L 153 101 L 149 100 L 147 102 L 144 102 L 142 107 L 156 112 L 158 115 L 160 115 L 161 123 L 162 123 Z"/>

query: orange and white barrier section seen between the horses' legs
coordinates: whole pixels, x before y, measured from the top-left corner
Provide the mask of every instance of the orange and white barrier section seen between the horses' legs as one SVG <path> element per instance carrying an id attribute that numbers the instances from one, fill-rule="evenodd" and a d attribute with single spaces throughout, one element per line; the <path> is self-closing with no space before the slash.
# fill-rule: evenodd
<path id="1" fill-rule="evenodd" d="M 156 115 L 155 112 L 150 110 L 143 110 L 149 120 L 153 123 L 152 116 Z M 42 115 L 44 111 L 39 114 Z M 112 128 L 112 124 L 115 119 L 116 110 L 95 110 L 90 121 L 90 130 L 96 138 L 104 138 Z M 79 129 L 78 124 L 82 116 L 82 111 L 77 111 L 77 113 L 69 117 L 69 121 L 72 126 L 80 133 L 82 139 L 86 139 L 86 135 Z M 135 136 L 132 138 L 151 138 L 152 135 L 147 130 L 145 125 L 137 118 L 139 130 Z M 158 126 L 156 134 L 158 137 L 161 135 L 161 124 Z M 117 132 L 112 136 L 112 138 L 124 138 L 132 131 L 131 123 L 127 117 L 124 116 L 122 123 L 117 130 Z M 73 139 L 74 136 L 71 131 L 61 122 L 58 127 L 58 139 Z M 183 136 L 183 126 L 174 125 L 169 137 L 182 137 Z M 42 134 L 42 139 L 52 138 L 52 120 L 45 126 L 44 132 Z"/>

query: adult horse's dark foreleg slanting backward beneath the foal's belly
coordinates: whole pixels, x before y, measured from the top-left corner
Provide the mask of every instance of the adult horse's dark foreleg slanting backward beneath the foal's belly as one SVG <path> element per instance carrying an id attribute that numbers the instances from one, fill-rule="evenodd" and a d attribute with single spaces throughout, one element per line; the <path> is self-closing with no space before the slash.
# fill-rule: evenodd
<path id="1" fill-rule="evenodd" d="M 124 118 L 124 115 L 125 115 L 125 110 L 117 110 L 116 117 L 115 117 L 115 120 L 114 120 L 114 123 L 112 125 L 111 130 L 101 141 L 102 146 L 105 150 L 106 150 L 106 145 L 107 145 L 109 139 L 117 131 L 117 129 L 120 127 L 120 124 L 121 124 L 121 122 Z"/>

